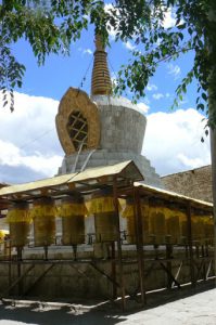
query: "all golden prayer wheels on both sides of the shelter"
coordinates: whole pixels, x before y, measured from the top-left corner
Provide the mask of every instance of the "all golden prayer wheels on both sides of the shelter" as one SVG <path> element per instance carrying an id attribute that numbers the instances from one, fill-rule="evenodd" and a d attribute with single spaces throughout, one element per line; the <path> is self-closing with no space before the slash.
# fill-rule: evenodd
<path id="1" fill-rule="evenodd" d="M 119 205 L 120 210 L 120 205 Z M 126 203 L 122 217 L 126 218 L 127 242 L 136 244 L 137 231 L 131 202 Z M 10 239 L 13 247 L 28 243 L 30 222 L 34 223 L 35 246 L 50 246 L 55 243 L 55 217 L 62 218 L 62 244 L 85 243 L 85 216 L 94 216 L 96 240 L 114 242 L 118 239 L 118 218 L 111 192 L 98 191 L 85 204 L 80 196 L 66 196 L 59 208 L 50 197 L 35 199 L 33 208 L 27 203 L 16 203 L 9 210 Z M 165 207 L 141 204 L 143 244 L 186 244 L 188 221 L 186 213 Z M 203 243 L 214 237 L 213 218 L 193 216 L 191 220 L 192 239 Z"/>

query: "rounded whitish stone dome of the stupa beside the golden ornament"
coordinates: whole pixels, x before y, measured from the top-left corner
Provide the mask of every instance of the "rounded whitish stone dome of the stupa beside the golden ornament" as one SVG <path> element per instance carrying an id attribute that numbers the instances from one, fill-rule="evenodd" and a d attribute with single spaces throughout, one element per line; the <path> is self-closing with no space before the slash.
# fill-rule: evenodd
<path id="1" fill-rule="evenodd" d="M 100 114 L 100 148 L 140 154 L 147 126 L 145 116 L 124 98 L 100 95 L 92 100 Z"/>

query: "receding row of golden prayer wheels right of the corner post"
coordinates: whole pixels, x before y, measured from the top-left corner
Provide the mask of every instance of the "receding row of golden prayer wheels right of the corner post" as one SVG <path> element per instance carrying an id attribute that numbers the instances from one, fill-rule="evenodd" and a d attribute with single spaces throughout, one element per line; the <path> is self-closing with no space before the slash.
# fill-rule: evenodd
<path id="1" fill-rule="evenodd" d="M 131 202 L 127 203 L 123 217 L 127 220 L 127 242 L 136 244 L 135 208 Z M 187 244 L 189 240 L 189 224 L 186 212 L 142 203 L 141 221 L 143 244 Z M 191 237 L 193 243 L 212 244 L 214 238 L 213 217 L 192 216 Z"/>

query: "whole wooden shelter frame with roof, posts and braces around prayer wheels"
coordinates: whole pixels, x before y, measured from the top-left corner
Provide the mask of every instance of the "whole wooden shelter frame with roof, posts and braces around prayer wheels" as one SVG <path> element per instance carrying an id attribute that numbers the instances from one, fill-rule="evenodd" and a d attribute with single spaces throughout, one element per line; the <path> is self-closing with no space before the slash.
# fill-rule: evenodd
<path id="1" fill-rule="evenodd" d="M 96 259 L 77 259 L 77 260 L 13 260 L 9 256 L 8 260 L 1 260 L 1 264 L 9 265 L 9 287 L 1 296 L 10 295 L 10 292 L 17 287 L 20 296 L 26 296 L 38 284 L 38 282 L 45 277 L 50 270 L 58 264 L 68 264 L 76 270 L 82 276 L 87 276 L 81 272 L 80 265 L 88 263 L 101 276 L 105 277 L 113 286 L 113 295 L 111 299 L 122 298 L 123 310 L 126 309 L 126 296 L 138 300 L 142 306 L 147 301 L 147 280 L 152 273 L 155 265 L 160 266 L 166 274 L 166 287 L 173 288 L 181 287 L 178 281 L 179 274 L 183 263 L 189 264 L 190 269 L 190 283 L 192 286 L 199 280 L 207 280 L 212 266 L 213 266 L 213 248 L 195 246 L 193 242 L 192 229 L 191 229 L 191 211 L 192 209 L 199 209 L 204 213 L 213 213 L 213 205 L 205 202 L 192 199 L 178 195 L 175 193 L 166 192 L 164 190 L 148 186 L 137 181 L 142 180 L 141 173 L 132 161 L 125 161 L 115 166 L 100 167 L 89 169 L 80 173 L 65 174 L 47 179 L 42 181 L 31 182 L 27 184 L 20 184 L 13 186 L 7 186 L 0 190 L 0 207 L 1 210 L 7 209 L 11 203 L 14 202 L 28 202 L 33 199 L 48 195 L 59 200 L 65 195 L 79 194 L 81 196 L 90 195 L 96 190 L 112 188 L 113 199 L 115 206 L 116 216 L 118 216 L 118 237 L 116 243 L 111 243 L 111 274 L 104 272 L 101 265 L 104 260 Z M 132 258 L 125 258 L 123 253 L 123 237 L 119 223 L 118 211 L 118 198 L 131 198 L 134 202 L 134 212 L 136 221 L 136 248 Z M 141 199 L 160 199 L 165 205 L 175 205 L 179 209 L 185 209 L 187 212 L 188 224 L 188 240 L 186 245 L 181 246 L 180 257 L 174 257 L 175 245 L 166 243 L 162 245 L 160 251 L 158 245 L 152 247 L 151 256 L 147 256 L 147 247 L 143 243 L 142 234 L 142 218 L 141 218 Z M 164 244 L 164 243 L 163 243 Z M 178 251 L 179 247 L 177 247 Z M 182 253 L 183 251 L 183 253 Z M 160 256 L 162 253 L 162 256 Z M 173 264 L 178 263 L 178 268 L 174 273 Z M 31 284 L 30 287 L 23 287 L 23 280 L 36 265 L 47 265 L 41 272 L 38 278 Z M 138 270 L 139 286 L 134 292 L 128 291 L 125 283 L 125 265 L 135 264 Z M 11 268 L 17 266 L 17 278 L 11 282 Z M 22 272 L 22 265 L 28 265 L 25 272 Z"/>

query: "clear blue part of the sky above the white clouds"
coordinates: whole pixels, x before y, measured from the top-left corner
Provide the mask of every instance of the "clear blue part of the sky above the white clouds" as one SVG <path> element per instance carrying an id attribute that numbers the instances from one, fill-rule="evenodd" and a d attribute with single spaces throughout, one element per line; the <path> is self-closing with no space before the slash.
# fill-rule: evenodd
<path id="1" fill-rule="evenodd" d="M 109 53 L 109 67 L 112 77 L 119 70 L 122 64 L 127 64 L 131 57 L 134 44 L 117 43 L 110 38 L 111 47 L 106 49 Z M 82 78 L 86 77 L 82 89 L 90 92 L 91 69 L 93 64 L 93 28 L 88 31 L 84 30 L 80 40 L 71 47 L 71 55 L 51 54 L 46 60 L 43 66 L 38 66 L 29 44 L 25 40 L 18 41 L 13 47 L 14 53 L 20 62 L 26 66 L 24 84 L 22 92 L 39 96 L 52 98 L 60 100 L 68 86 L 80 87 Z M 191 66 L 193 54 L 187 54 L 179 60 L 170 63 L 163 63 L 158 67 L 155 76 L 147 88 L 147 103 L 151 101 L 151 112 L 167 109 L 173 103 L 174 92 L 181 78 L 185 77 Z M 89 67 L 89 70 L 88 70 Z M 88 70 L 88 73 L 87 73 Z M 153 88 L 151 87 L 153 86 Z M 125 94 L 131 99 L 129 91 Z M 194 106 L 195 88 L 190 87 L 189 92 L 180 105 L 182 108 L 188 107 L 188 103 Z"/>

